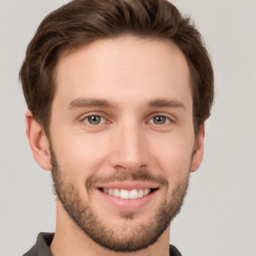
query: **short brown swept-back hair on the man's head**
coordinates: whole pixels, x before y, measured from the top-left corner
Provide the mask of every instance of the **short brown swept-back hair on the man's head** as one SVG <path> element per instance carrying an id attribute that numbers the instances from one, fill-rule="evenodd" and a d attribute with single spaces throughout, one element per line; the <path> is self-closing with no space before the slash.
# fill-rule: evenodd
<path id="1" fill-rule="evenodd" d="M 46 135 L 60 53 L 97 39 L 124 35 L 169 40 L 183 52 L 190 68 L 193 125 L 198 133 L 213 103 L 213 69 L 190 18 L 167 0 L 72 0 L 40 23 L 19 72 L 27 107 Z"/>

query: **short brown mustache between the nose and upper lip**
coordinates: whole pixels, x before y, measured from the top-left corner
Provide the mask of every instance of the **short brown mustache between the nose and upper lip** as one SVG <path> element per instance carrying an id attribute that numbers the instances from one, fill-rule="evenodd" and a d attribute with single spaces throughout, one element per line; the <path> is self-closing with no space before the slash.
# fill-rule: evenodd
<path id="1" fill-rule="evenodd" d="M 85 182 L 88 193 L 96 183 L 110 183 L 114 181 L 148 181 L 168 187 L 167 178 L 161 174 L 153 175 L 150 171 L 139 169 L 136 172 L 128 173 L 116 171 L 108 176 L 91 175 Z"/>

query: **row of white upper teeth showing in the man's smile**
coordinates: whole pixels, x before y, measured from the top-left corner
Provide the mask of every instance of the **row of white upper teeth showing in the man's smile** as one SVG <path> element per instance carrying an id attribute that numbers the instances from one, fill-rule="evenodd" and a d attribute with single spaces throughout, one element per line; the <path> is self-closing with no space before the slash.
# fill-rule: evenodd
<path id="1" fill-rule="evenodd" d="M 139 188 L 139 189 L 118 189 L 118 188 L 106 188 L 102 189 L 105 193 L 120 197 L 123 199 L 136 199 L 138 197 L 142 197 L 147 195 L 150 192 L 150 188 Z"/>

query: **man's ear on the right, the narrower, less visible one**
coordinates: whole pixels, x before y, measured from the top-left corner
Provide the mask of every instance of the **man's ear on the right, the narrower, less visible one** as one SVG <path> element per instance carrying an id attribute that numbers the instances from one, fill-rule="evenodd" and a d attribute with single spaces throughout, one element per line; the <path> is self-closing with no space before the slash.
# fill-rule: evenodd
<path id="1" fill-rule="evenodd" d="M 203 140 L 204 140 L 204 124 L 201 125 L 198 136 L 195 139 L 195 143 L 194 143 L 195 153 L 191 163 L 191 169 L 190 169 L 191 172 L 197 170 L 202 162 Z"/>

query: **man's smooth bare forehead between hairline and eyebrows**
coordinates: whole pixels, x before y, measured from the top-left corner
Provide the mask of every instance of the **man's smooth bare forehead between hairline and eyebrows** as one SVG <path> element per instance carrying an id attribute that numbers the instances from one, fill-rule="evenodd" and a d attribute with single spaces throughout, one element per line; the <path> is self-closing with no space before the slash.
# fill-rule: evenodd
<path id="1" fill-rule="evenodd" d="M 168 97 L 191 101 L 189 67 L 170 41 L 120 37 L 65 51 L 57 65 L 54 101 L 108 98 L 117 104 Z M 119 102 L 118 102 L 119 101 Z"/>

